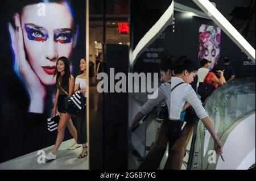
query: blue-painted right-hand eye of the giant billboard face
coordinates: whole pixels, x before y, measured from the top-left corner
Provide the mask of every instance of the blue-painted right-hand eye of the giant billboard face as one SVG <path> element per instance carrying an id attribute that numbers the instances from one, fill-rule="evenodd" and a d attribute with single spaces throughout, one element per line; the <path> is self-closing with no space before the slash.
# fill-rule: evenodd
<path id="1" fill-rule="evenodd" d="M 63 43 L 71 43 L 72 30 L 69 28 L 57 29 L 54 31 L 54 41 Z"/>

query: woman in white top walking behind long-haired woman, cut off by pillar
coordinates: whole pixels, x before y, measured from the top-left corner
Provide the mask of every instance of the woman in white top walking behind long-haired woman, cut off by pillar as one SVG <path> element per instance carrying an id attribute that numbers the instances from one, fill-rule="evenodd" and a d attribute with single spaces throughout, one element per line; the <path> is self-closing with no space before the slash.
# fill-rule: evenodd
<path id="1" fill-rule="evenodd" d="M 85 96 L 86 99 L 86 60 L 81 58 L 80 60 L 80 70 L 81 74 L 77 75 L 75 80 L 75 91 L 80 90 L 80 92 Z M 87 138 L 86 138 L 86 108 L 82 110 L 82 113 L 76 117 L 77 118 L 77 144 L 82 144 L 82 153 L 79 158 L 84 158 L 87 156 Z"/>

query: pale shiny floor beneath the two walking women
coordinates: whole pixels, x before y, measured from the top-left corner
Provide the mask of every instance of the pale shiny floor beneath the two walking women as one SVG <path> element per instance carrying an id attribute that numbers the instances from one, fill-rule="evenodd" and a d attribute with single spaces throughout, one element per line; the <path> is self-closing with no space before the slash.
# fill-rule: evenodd
<path id="1" fill-rule="evenodd" d="M 0 163 L 2 170 L 88 170 L 88 158 L 77 158 L 82 151 L 82 147 L 75 150 L 68 150 L 75 141 L 73 139 L 64 141 L 57 152 L 57 158 L 46 163 L 38 163 L 40 154 L 34 151 L 30 154 L 23 155 L 10 161 Z M 45 149 L 49 153 L 53 146 Z M 42 155 L 42 154 L 41 154 Z M 41 159 L 42 160 L 42 159 Z"/>

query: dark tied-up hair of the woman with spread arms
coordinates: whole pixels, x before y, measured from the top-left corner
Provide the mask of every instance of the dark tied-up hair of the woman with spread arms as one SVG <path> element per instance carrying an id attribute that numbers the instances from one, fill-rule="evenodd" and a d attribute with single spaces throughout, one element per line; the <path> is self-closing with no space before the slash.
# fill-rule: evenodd
<path id="1" fill-rule="evenodd" d="M 183 55 L 172 62 L 172 70 L 174 70 L 175 75 L 183 73 L 187 70 L 188 73 L 197 71 L 197 65 L 192 60 L 189 60 L 187 56 Z"/>

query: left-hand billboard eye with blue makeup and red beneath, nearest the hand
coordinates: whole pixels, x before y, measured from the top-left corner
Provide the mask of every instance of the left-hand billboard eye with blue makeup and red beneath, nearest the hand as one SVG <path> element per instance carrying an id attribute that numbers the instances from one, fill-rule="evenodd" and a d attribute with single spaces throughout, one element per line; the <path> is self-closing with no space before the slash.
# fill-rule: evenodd
<path id="1" fill-rule="evenodd" d="M 44 42 L 49 38 L 47 30 L 36 26 L 36 24 L 25 23 L 25 30 L 29 40 Z"/>

